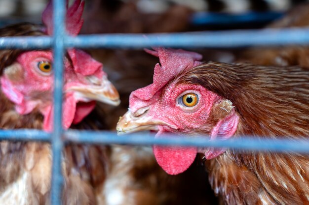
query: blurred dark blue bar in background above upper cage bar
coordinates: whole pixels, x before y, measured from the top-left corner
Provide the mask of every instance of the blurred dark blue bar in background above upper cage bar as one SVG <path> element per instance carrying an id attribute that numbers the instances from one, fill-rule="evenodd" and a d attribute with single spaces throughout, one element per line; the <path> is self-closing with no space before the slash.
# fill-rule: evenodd
<path id="1" fill-rule="evenodd" d="M 240 14 L 197 12 L 192 15 L 191 23 L 199 26 L 267 23 L 280 18 L 283 12 L 248 12 Z"/>

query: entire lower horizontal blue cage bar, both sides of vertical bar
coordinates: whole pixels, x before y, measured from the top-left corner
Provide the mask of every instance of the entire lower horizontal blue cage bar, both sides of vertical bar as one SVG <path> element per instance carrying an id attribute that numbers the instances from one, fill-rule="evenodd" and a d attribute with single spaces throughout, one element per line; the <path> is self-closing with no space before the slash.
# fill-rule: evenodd
<path id="1" fill-rule="evenodd" d="M 90 136 L 90 137 L 89 137 Z M 20 129 L 0 131 L 0 140 L 11 141 L 43 141 L 51 142 L 51 134 L 41 130 Z M 63 132 L 64 143 L 82 144 L 124 144 L 124 145 L 174 145 L 174 146 L 197 146 L 197 147 L 227 147 L 238 150 L 264 150 L 298 153 L 309 153 L 309 140 L 289 140 L 287 136 L 282 139 L 257 139 L 254 136 L 242 136 L 237 139 L 225 141 L 209 141 L 208 136 L 182 136 L 169 134 L 164 138 L 154 138 L 154 134 L 131 133 L 118 136 L 111 131 L 80 131 L 68 130 Z"/>

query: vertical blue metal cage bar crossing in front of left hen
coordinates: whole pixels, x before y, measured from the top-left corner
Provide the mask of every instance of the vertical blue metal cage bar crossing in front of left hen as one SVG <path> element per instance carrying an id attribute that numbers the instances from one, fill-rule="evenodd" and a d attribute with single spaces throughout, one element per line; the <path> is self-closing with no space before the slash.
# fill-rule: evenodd
<path id="1" fill-rule="evenodd" d="M 53 0 L 54 50 L 54 127 L 52 133 L 51 205 L 61 205 L 63 177 L 61 174 L 62 141 L 62 87 L 65 35 L 65 0 Z"/>

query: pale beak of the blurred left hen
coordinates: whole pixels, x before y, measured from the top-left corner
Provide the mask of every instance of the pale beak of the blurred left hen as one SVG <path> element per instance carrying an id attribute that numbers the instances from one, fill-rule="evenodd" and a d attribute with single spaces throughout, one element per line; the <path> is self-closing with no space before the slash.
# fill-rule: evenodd
<path id="1" fill-rule="evenodd" d="M 87 79 L 90 85 L 72 86 L 68 90 L 74 91 L 81 101 L 96 100 L 114 106 L 120 104 L 118 91 L 106 76 L 102 79 L 89 76 Z"/>

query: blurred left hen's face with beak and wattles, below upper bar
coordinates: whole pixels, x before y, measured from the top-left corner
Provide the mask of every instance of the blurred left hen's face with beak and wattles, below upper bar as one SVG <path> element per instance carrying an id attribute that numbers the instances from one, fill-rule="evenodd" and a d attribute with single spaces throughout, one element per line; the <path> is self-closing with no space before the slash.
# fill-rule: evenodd
<path id="1" fill-rule="evenodd" d="M 103 65 L 80 50 L 69 50 L 64 61 L 63 126 L 69 128 L 88 115 L 93 100 L 119 104 L 116 88 L 107 80 Z M 77 59 L 82 59 L 78 62 Z M 1 76 L 3 93 L 22 115 L 38 109 L 44 116 L 43 129 L 52 130 L 53 57 L 51 51 L 22 53 L 16 62 L 4 69 Z"/>

